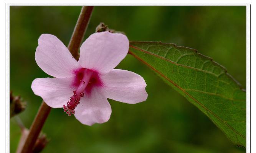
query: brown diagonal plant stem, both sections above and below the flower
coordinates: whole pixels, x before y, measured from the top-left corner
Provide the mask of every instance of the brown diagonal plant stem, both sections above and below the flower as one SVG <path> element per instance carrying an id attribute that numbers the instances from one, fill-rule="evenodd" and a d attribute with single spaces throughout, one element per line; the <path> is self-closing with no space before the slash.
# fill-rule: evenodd
<path id="1" fill-rule="evenodd" d="M 78 21 L 74 28 L 74 32 L 72 34 L 71 40 L 68 44 L 68 49 L 73 55 L 73 57 L 78 60 L 78 48 L 81 45 L 81 42 L 84 37 L 84 33 L 88 26 L 89 20 L 91 18 L 93 6 L 82 7 L 81 13 L 79 15 Z M 28 136 L 26 137 L 25 143 L 22 147 L 21 151 L 17 153 L 31 153 L 33 150 L 33 146 L 35 145 L 36 139 L 43 128 L 45 120 L 47 119 L 49 113 L 51 111 L 51 107 L 49 107 L 44 101 L 42 102 L 38 113 L 30 127 Z"/>

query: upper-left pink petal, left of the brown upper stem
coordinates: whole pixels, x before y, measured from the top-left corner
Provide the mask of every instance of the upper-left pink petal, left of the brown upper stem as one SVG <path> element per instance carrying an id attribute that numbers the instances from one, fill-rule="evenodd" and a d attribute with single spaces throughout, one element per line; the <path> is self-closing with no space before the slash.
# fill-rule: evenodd
<path id="1" fill-rule="evenodd" d="M 52 34 L 42 34 L 39 37 L 35 59 L 45 73 L 56 78 L 74 76 L 73 70 L 80 67 L 67 47 Z"/>

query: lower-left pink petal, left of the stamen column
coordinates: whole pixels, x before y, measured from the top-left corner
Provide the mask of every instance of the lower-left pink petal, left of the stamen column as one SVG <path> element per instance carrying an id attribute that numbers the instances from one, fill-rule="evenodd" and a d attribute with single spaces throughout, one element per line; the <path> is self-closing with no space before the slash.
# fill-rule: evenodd
<path id="1" fill-rule="evenodd" d="M 37 78 L 32 82 L 34 94 L 53 108 L 63 107 L 73 95 L 71 78 Z"/>

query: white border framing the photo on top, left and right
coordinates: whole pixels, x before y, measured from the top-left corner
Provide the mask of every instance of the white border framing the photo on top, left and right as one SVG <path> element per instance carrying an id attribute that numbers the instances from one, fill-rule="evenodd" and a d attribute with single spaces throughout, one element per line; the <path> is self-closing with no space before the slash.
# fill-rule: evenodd
<path id="1" fill-rule="evenodd" d="M 251 151 L 251 10 L 250 3 L 6 3 L 6 152 L 10 152 L 10 6 L 246 6 L 246 152 Z M 1 147 L 3 148 L 3 147 Z"/>

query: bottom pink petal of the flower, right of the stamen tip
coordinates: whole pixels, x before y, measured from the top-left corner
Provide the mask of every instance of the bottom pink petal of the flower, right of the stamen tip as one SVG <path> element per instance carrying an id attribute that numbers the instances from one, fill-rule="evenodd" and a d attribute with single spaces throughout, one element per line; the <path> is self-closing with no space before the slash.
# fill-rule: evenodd
<path id="1" fill-rule="evenodd" d="M 111 106 L 97 89 L 93 89 L 91 95 L 84 96 L 80 104 L 75 108 L 74 116 L 82 124 L 92 125 L 94 123 L 107 122 L 111 115 Z"/>

